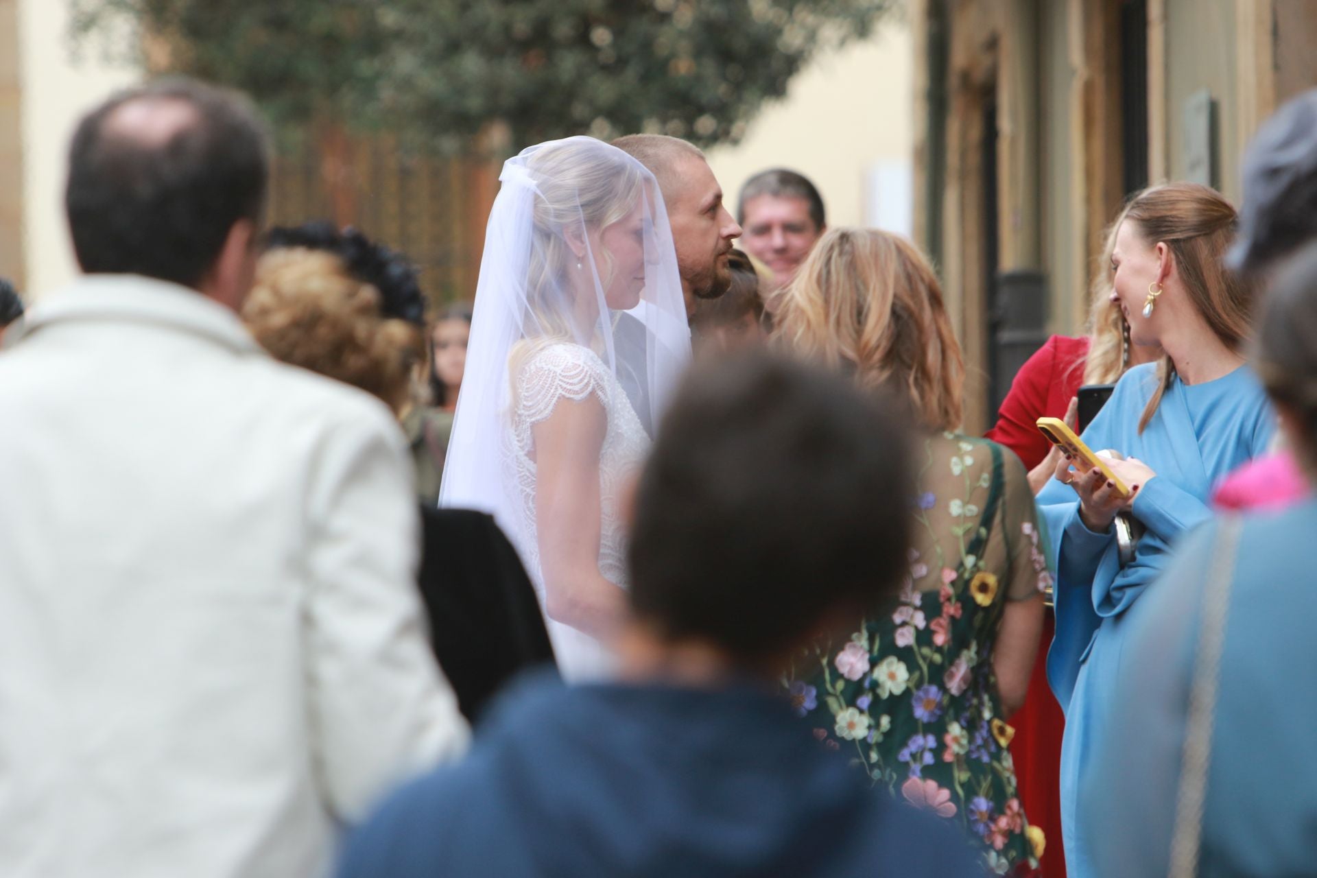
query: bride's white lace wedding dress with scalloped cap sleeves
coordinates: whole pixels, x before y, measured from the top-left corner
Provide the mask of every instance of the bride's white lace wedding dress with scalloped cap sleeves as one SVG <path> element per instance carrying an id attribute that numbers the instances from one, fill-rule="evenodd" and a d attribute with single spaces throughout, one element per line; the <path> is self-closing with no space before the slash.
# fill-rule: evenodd
<path id="1" fill-rule="evenodd" d="M 649 436 L 622 384 L 593 350 L 570 342 L 552 344 L 531 353 L 514 382 L 512 429 L 504 434 L 503 449 L 504 465 L 511 470 L 506 474 L 506 484 L 516 491 L 512 507 L 520 519 L 520 527 L 512 529 L 512 533 L 519 534 L 514 540 L 519 544 L 518 549 L 531 574 L 540 609 L 544 609 L 544 574 L 535 515 L 532 428 L 547 419 L 562 400 L 579 401 L 595 396 L 603 405 L 608 423 L 599 452 L 599 573 L 626 588 L 627 546 L 618 508 L 619 492 L 644 459 Z M 610 674 L 612 656 L 599 641 L 549 619 L 548 613 L 544 620 L 564 679 L 598 679 Z"/>

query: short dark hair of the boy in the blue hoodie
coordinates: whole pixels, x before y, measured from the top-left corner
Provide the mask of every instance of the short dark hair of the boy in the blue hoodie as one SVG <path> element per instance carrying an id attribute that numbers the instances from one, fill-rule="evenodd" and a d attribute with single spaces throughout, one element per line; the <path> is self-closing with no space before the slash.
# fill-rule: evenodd
<path id="1" fill-rule="evenodd" d="M 893 598 L 914 494 L 901 424 L 844 376 L 776 354 L 694 373 L 636 496 L 637 619 L 764 670 Z"/>

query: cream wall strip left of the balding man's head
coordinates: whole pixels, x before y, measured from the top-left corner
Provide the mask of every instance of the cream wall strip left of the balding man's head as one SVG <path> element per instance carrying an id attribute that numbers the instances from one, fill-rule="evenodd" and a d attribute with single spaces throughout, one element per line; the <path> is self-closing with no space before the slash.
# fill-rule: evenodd
<path id="1" fill-rule="evenodd" d="M 14 0 L 0 0 L 0 4 Z M 99 49 L 74 57 L 67 0 L 17 0 L 25 296 L 71 280 L 78 267 L 63 216 L 68 140 L 78 120 L 107 95 L 137 80 Z M 3 25 L 0 25 L 3 26 Z M 0 122 L 3 124 L 3 122 Z"/>

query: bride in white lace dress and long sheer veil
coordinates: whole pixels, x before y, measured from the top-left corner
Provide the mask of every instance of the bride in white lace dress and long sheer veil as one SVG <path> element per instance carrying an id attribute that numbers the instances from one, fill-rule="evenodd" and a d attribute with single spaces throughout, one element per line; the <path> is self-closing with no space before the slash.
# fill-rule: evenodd
<path id="1" fill-rule="evenodd" d="M 620 494 L 690 358 L 662 196 L 572 137 L 508 159 L 490 212 L 440 505 L 491 512 L 566 679 L 610 670 L 627 587 Z"/>

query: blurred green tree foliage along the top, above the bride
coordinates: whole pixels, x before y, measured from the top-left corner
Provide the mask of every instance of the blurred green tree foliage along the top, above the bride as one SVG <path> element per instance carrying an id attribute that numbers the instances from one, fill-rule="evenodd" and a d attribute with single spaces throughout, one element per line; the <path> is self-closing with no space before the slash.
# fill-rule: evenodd
<path id="1" fill-rule="evenodd" d="M 865 36 L 896 0 L 72 3 L 83 38 L 126 20 L 148 34 L 136 45 L 165 49 L 153 66 L 241 88 L 279 122 L 328 116 L 457 146 L 494 120 L 515 145 L 736 141 L 814 53 Z"/>

